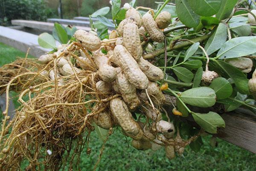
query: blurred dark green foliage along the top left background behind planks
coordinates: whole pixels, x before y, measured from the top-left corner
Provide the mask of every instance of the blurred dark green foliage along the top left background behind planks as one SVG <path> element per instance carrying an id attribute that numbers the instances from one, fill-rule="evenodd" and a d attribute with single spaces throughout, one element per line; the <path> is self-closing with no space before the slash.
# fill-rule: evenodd
<path id="1" fill-rule="evenodd" d="M 122 5 L 131 0 L 122 0 Z M 158 2 L 164 0 L 137 0 L 135 6 L 157 8 Z M 171 0 L 170 2 L 173 2 Z M 0 0 L 0 25 L 9 26 L 11 20 L 38 20 L 46 21 L 47 18 L 60 18 L 60 0 Z M 87 17 L 96 10 L 109 6 L 109 0 L 61 0 L 63 18 Z M 106 17 L 111 18 L 109 13 Z"/>

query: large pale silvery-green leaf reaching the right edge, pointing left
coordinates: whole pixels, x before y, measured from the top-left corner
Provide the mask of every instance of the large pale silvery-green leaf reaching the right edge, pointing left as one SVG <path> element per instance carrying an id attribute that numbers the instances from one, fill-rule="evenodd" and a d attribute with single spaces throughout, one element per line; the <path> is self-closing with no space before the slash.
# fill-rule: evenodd
<path id="1" fill-rule="evenodd" d="M 224 43 L 218 51 L 220 59 L 237 58 L 256 52 L 256 36 L 233 38 Z"/>

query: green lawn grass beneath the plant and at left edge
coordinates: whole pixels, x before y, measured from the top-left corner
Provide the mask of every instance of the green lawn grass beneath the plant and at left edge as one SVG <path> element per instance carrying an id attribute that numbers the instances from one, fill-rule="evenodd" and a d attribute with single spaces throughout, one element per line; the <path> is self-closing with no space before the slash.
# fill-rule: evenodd
<path id="1" fill-rule="evenodd" d="M 0 66 L 24 57 L 25 53 L 0 43 Z M 31 57 L 31 56 L 30 56 Z M 256 171 L 256 155 L 242 148 L 218 139 L 218 147 L 209 144 L 210 135 L 203 137 L 204 145 L 198 152 L 185 148 L 182 156 L 169 161 L 164 148 L 159 151 L 137 151 L 128 146 L 131 139 L 126 139 L 119 130 L 110 136 L 97 171 Z M 102 140 L 96 131 L 91 134 L 88 157 L 86 148 L 81 155 L 82 171 L 92 171 L 99 157 Z M 74 169 L 76 171 L 77 169 Z M 67 171 L 67 169 L 65 169 Z"/>

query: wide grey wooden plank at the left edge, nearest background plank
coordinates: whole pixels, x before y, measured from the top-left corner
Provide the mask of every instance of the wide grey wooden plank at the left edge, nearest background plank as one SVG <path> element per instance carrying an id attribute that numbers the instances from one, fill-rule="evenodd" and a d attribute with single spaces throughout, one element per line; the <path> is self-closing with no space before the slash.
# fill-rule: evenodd
<path id="1" fill-rule="evenodd" d="M 15 47 L 22 52 L 27 52 L 30 47 L 29 54 L 39 57 L 51 49 L 44 49 L 38 44 L 38 35 L 22 32 L 8 27 L 0 26 L 0 42 Z M 57 43 L 57 46 L 59 43 Z"/>

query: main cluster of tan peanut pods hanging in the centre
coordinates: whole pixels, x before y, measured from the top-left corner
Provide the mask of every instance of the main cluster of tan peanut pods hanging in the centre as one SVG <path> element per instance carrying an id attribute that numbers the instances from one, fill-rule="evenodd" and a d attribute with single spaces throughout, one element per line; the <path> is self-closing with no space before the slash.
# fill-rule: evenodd
<path id="1" fill-rule="evenodd" d="M 155 81 L 164 78 L 163 71 L 143 59 L 141 45 L 145 33 L 152 41 L 163 42 L 165 36 L 161 29 L 166 28 L 170 21 L 169 12 L 160 13 L 155 21 L 151 14 L 146 13 L 141 17 L 131 7 L 119 27 L 109 35 L 109 40 L 101 41 L 92 33 L 77 30 L 74 37 L 83 47 L 76 52 L 79 58 L 72 64 L 67 59 L 70 54 L 61 56 L 57 59 L 58 75 L 51 70 L 49 77 L 52 80 L 59 78 L 58 84 L 62 85 L 62 76 L 79 74 L 82 70 L 95 72 L 98 80 L 95 87 L 103 94 L 102 99 L 120 94 L 111 99 L 107 109 L 93 115 L 96 125 L 103 129 L 120 126 L 123 134 L 133 139 L 132 145 L 138 150 L 157 150 L 165 146 L 166 156 L 172 159 L 175 149 L 182 153 L 184 145 L 177 145 L 179 134 L 174 139 L 175 126 L 168 116 L 169 121 L 162 119 L 162 108 L 163 105 L 176 104 L 175 98 L 164 95 L 160 90 Z M 66 45 L 62 45 L 55 54 L 43 55 L 39 61 L 47 64 L 55 59 L 54 55 L 65 52 L 66 48 Z M 104 54 L 102 49 L 108 53 Z M 137 121 L 132 116 L 135 111 L 142 114 Z M 143 117 L 144 120 L 141 119 Z M 168 142 L 172 142 L 172 145 Z"/>

